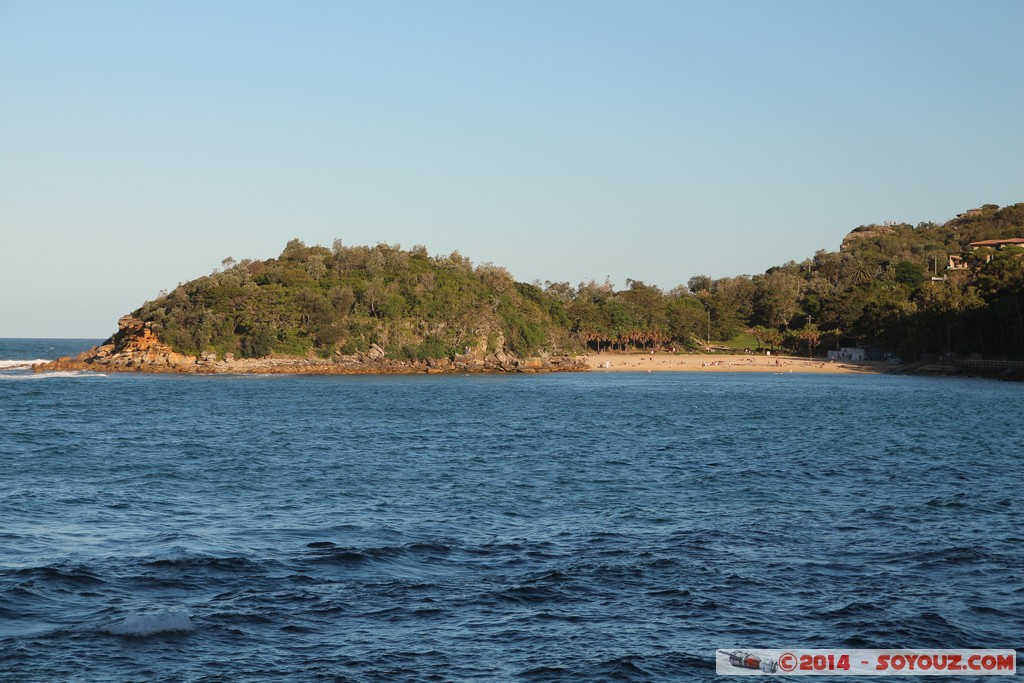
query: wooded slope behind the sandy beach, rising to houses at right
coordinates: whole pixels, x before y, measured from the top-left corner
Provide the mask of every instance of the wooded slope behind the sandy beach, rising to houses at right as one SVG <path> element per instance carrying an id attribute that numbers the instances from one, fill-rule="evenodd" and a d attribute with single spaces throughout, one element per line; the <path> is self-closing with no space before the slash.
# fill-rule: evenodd
<path id="1" fill-rule="evenodd" d="M 758 275 L 697 275 L 668 293 L 639 281 L 621 292 L 548 283 L 546 293 L 591 349 L 700 347 L 750 330 L 763 346 L 798 353 L 857 345 L 907 360 L 1024 357 L 1024 249 L 971 246 L 1013 238 L 1024 238 L 1024 204 L 985 205 L 941 225 L 862 225 L 839 251 Z"/>

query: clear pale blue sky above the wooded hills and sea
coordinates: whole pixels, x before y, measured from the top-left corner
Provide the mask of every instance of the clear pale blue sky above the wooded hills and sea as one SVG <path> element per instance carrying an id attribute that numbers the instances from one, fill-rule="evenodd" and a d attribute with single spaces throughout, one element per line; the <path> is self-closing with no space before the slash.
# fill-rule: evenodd
<path id="1" fill-rule="evenodd" d="M 0 0 L 0 337 L 285 243 L 763 272 L 1024 201 L 1024 2 Z"/>

